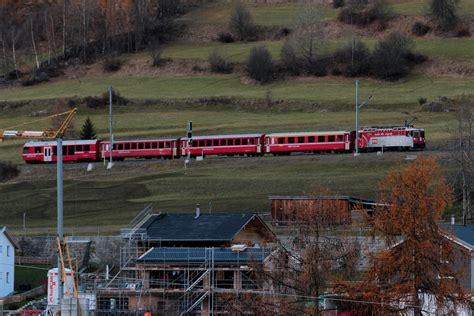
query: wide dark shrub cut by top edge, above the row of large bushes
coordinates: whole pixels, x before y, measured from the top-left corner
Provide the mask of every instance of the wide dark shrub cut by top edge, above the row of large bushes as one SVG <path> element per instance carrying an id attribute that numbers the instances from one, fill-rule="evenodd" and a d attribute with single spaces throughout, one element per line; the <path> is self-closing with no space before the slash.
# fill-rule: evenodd
<path id="1" fill-rule="evenodd" d="M 392 18 L 392 12 L 383 0 L 352 0 L 338 15 L 341 22 L 366 26 L 379 21 L 383 26 Z"/>

